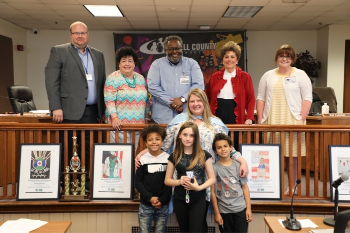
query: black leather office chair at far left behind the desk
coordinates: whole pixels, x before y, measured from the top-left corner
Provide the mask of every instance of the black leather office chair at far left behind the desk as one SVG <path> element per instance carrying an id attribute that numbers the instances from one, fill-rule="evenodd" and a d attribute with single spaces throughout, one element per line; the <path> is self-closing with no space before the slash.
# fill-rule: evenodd
<path id="1" fill-rule="evenodd" d="M 29 112 L 30 110 L 36 110 L 33 94 L 31 89 L 26 86 L 9 86 L 7 87 L 7 95 L 13 112 L 22 114 L 23 112 Z"/>

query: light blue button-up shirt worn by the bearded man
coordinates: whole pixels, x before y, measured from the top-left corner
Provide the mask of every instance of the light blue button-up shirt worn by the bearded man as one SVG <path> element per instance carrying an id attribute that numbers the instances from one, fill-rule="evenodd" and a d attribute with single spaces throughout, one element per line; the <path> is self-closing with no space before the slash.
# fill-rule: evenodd
<path id="1" fill-rule="evenodd" d="M 189 76 L 189 84 L 180 84 L 180 76 Z M 166 57 L 156 59 L 149 68 L 148 91 L 152 95 L 151 118 L 158 124 L 168 124 L 177 112 L 170 108 L 169 99 L 184 97 L 194 88 L 204 90 L 203 74 L 198 63 L 188 57 L 182 57 L 177 65 Z M 182 105 L 186 112 L 186 104 Z"/>

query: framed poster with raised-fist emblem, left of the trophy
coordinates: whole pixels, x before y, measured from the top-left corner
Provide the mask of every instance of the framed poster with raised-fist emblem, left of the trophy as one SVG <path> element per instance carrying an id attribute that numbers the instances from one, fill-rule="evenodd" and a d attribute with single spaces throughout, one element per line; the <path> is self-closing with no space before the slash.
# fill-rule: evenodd
<path id="1" fill-rule="evenodd" d="M 20 144 L 17 201 L 58 200 L 61 144 Z"/>

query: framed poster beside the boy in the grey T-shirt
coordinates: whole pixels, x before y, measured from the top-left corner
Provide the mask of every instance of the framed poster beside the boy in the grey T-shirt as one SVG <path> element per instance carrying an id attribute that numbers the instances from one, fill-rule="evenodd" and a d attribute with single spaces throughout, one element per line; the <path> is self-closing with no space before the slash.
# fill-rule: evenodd
<path id="1" fill-rule="evenodd" d="M 280 144 L 240 144 L 252 200 L 282 200 Z"/>

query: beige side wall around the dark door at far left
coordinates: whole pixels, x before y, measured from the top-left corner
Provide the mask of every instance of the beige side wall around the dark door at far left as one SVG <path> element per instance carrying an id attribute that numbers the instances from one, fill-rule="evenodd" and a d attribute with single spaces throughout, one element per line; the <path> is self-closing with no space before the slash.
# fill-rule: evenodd
<path id="1" fill-rule="evenodd" d="M 12 39 L 13 45 L 13 76 L 15 85 L 27 86 L 26 50 L 17 51 L 17 45 L 26 46 L 26 30 L 0 18 L 0 35 Z"/>

